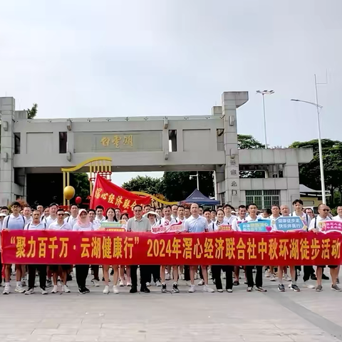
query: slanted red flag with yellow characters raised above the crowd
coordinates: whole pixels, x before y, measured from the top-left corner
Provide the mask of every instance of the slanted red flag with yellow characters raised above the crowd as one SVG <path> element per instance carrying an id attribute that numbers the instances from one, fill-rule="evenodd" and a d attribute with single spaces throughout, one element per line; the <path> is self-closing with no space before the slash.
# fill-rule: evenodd
<path id="1" fill-rule="evenodd" d="M 121 212 L 128 212 L 130 217 L 132 217 L 135 204 L 143 206 L 144 204 L 150 204 L 150 202 L 150 197 L 135 195 L 122 187 L 118 187 L 118 185 L 113 184 L 110 180 L 96 175 L 90 208 L 95 209 L 97 205 L 102 205 L 105 209 L 109 207 L 120 208 Z"/>

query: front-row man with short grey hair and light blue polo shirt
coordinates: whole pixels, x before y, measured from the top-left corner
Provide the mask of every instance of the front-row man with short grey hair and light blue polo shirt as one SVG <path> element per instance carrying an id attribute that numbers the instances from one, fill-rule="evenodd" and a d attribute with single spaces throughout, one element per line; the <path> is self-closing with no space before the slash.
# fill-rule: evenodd
<path id="1" fill-rule="evenodd" d="M 205 217 L 199 216 L 198 204 L 192 203 L 190 207 L 191 216 L 184 222 L 184 231 L 189 233 L 204 233 L 208 232 L 208 222 Z M 198 266 L 190 266 L 190 280 L 191 286 L 189 292 L 195 292 L 195 272 Z M 202 273 L 204 278 L 203 291 L 214 292 L 212 288 L 208 286 L 208 273 L 207 266 L 202 266 Z"/>

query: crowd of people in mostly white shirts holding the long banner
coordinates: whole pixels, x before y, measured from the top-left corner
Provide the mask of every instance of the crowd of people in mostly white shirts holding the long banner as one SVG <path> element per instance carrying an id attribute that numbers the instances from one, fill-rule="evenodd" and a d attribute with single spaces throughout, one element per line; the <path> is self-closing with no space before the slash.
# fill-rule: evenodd
<path id="1" fill-rule="evenodd" d="M 19 202 L 11 204 L 11 213 L 8 207 L 0 209 L 0 227 L 2 230 L 68 230 L 68 231 L 93 231 L 101 227 L 101 222 L 123 222 L 125 229 L 128 232 L 150 232 L 151 227 L 155 225 L 171 225 L 182 222 L 182 230 L 190 233 L 205 233 L 217 232 L 219 226 L 228 224 L 232 230 L 239 231 L 239 224 L 242 222 L 257 221 L 258 219 L 270 219 L 272 230 L 276 230 L 275 221 L 277 218 L 296 216 L 301 217 L 304 222 L 304 229 L 308 231 L 319 232 L 321 225 L 319 222 L 334 219 L 342 221 L 342 206 L 337 209 L 337 216 L 332 217 L 330 208 L 326 204 L 318 206 L 318 215 L 315 215 L 312 209 L 304 209 L 301 199 L 296 199 L 293 202 L 294 211 L 291 212 L 288 205 L 274 204 L 270 209 L 259 211 L 256 204 L 249 204 L 247 207 L 240 205 L 237 211 L 229 204 L 218 206 L 216 209 L 207 209 L 200 207 L 196 203 L 190 205 L 165 205 L 162 209 L 152 209 L 150 205 L 135 205 L 133 208 L 133 217 L 129 217 L 128 212 L 121 212 L 119 208 L 107 208 L 102 206 L 95 209 L 79 209 L 76 204 L 72 204 L 70 212 L 66 212 L 63 208 L 58 207 L 58 204 L 51 203 L 44 208 L 38 205 L 36 209 L 25 205 L 21 207 Z M 0 263 L 1 263 L 1 241 L 0 241 Z M 70 292 L 68 281 L 71 279 L 74 265 L 15 265 L 16 288 L 15 291 L 25 293 L 26 295 L 33 294 L 36 273 L 39 275 L 39 286 L 41 294 L 48 294 L 48 287 L 53 287 L 51 293 L 56 294 L 59 291 L 58 279 L 61 281 L 61 291 Z M 119 293 L 120 286 L 130 286 L 130 293 L 138 291 L 138 267 L 139 265 L 103 265 L 103 294 L 110 292 L 109 282 L 110 275 L 113 276 L 113 293 Z M 322 291 L 322 279 L 329 279 L 323 273 L 325 265 L 316 266 L 316 274 L 313 266 L 304 266 L 304 286 L 309 289 Z M 331 274 L 331 289 L 341 291 L 338 287 L 338 272 L 339 265 L 329 265 Z M 86 294 L 89 289 L 86 287 L 86 279 L 89 274 L 89 268 L 93 274 L 92 283 L 94 286 L 100 286 L 99 270 L 100 265 L 75 265 L 76 282 L 80 294 Z M 0 286 L 4 280 L 3 294 L 9 294 L 11 291 L 11 264 L 0 264 L 2 269 L 0 277 Z M 234 286 L 240 285 L 240 271 L 244 270 L 247 291 L 251 292 L 254 289 L 257 291 L 266 292 L 263 287 L 263 276 L 269 277 L 270 281 L 276 281 L 278 278 L 279 291 L 285 291 L 283 281 L 289 281 L 289 288 L 293 291 L 300 291 L 296 281 L 301 274 L 301 266 L 232 266 L 232 265 L 212 265 L 212 266 L 186 266 L 186 265 L 140 265 L 140 291 L 149 293 L 148 287 L 153 281 L 155 286 L 160 286 L 162 292 L 167 292 L 166 281 L 173 279 L 172 292 L 178 293 L 178 280 L 182 279 L 190 281 L 189 292 L 195 292 L 195 280 L 199 278 L 197 285 L 202 286 L 203 291 L 214 292 L 214 289 L 209 286 L 208 279 L 211 274 L 212 281 L 218 292 L 223 292 L 222 286 L 222 271 L 223 278 L 226 280 L 225 290 L 229 293 L 233 291 Z M 255 281 L 253 273 L 256 269 Z M 288 274 L 289 269 L 289 274 Z M 28 275 L 28 286 L 26 287 L 26 274 Z M 316 281 L 316 286 L 311 283 Z"/>

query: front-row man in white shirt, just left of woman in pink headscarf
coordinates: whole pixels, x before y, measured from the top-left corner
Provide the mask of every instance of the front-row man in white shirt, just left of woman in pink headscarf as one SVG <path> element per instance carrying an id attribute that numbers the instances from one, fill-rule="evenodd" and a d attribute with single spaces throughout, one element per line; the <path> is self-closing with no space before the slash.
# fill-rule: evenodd
<path id="1" fill-rule="evenodd" d="M 71 225 L 68 222 L 64 222 L 64 210 L 58 209 L 56 214 L 57 214 L 57 220 L 55 222 L 52 222 L 50 226 L 48 227 L 48 229 L 72 231 L 73 228 L 71 227 Z M 58 279 L 58 270 L 60 268 L 62 270 L 61 280 L 63 281 L 62 291 L 66 293 L 70 292 L 70 290 L 68 289 L 68 286 L 66 285 L 66 281 L 67 281 L 67 276 L 68 276 L 68 270 L 71 268 L 71 265 L 51 265 L 50 270 L 52 271 L 52 274 L 53 274 L 53 289 L 51 291 L 51 294 L 56 294 L 58 292 L 57 279 Z"/>

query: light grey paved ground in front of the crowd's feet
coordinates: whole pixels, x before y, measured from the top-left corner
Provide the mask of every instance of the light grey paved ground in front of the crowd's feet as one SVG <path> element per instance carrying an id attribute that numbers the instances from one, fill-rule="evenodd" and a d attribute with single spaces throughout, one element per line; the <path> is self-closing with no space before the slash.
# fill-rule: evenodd
<path id="1" fill-rule="evenodd" d="M 244 284 L 232 294 L 202 293 L 200 286 L 188 294 L 180 284 L 180 294 L 151 286 L 150 294 L 125 287 L 104 295 L 103 287 L 89 286 L 81 295 L 72 281 L 71 294 L 0 295 L 0 341 L 342 341 L 342 292 L 331 291 L 329 281 L 321 293 L 287 286 L 280 293 L 266 278 L 266 294 L 247 293 Z"/>

